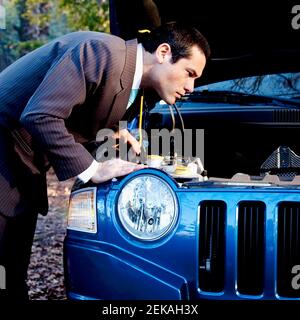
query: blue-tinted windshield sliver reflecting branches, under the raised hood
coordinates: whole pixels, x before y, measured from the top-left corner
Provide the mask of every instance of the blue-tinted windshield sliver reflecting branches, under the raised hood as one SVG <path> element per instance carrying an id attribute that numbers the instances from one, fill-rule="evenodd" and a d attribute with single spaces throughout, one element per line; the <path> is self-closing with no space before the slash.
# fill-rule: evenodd
<path id="1" fill-rule="evenodd" d="M 232 91 L 258 96 L 300 99 L 300 73 L 268 74 L 227 80 L 195 88 L 195 92 Z"/>

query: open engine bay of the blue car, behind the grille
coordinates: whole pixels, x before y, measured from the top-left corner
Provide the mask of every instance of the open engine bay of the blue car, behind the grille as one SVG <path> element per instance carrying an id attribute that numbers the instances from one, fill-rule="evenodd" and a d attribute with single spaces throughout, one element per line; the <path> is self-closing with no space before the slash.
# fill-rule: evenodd
<path id="1" fill-rule="evenodd" d="M 180 182 L 223 181 L 254 185 L 300 184 L 298 123 L 224 123 L 222 119 L 208 121 L 197 115 L 185 117 L 185 114 L 182 114 L 182 118 L 185 128 L 203 128 L 204 154 L 201 159 L 183 159 L 172 152 L 171 156 L 170 153 L 159 154 L 162 157 L 160 169 L 174 179 Z M 174 126 L 167 119 L 150 114 L 147 127 L 161 126 L 172 131 Z M 193 153 L 195 148 L 193 145 Z M 148 150 L 151 150 L 151 146 Z"/>

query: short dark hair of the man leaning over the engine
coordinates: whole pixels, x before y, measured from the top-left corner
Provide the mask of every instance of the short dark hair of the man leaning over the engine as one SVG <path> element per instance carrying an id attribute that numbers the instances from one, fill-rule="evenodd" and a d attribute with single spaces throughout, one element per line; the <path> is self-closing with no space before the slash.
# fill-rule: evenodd
<path id="1" fill-rule="evenodd" d="M 210 47 L 199 30 L 192 26 L 178 22 L 169 22 L 161 25 L 150 33 L 139 36 L 146 51 L 153 53 L 161 43 L 168 43 L 172 51 L 172 62 L 191 55 L 191 47 L 197 45 L 204 53 L 206 59 L 210 56 Z"/>

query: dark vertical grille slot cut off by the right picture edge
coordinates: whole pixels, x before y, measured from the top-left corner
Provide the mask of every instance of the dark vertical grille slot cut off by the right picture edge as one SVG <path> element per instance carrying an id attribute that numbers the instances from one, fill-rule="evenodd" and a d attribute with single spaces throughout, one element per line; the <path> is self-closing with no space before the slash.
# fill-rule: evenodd
<path id="1" fill-rule="evenodd" d="M 300 203 L 281 202 L 278 206 L 277 292 L 280 296 L 300 297 L 292 286 L 292 269 L 300 265 Z"/>

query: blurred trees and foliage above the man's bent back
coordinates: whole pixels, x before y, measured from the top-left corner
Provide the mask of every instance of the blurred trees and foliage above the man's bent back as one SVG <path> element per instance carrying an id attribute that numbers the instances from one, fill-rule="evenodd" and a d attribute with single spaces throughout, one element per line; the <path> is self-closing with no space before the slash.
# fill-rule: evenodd
<path id="1" fill-rule="evenodd" d="M 7 0 L 0 31 L 0 71 L 44 43 L 71 31 L 109 32 L 108 0 Z"/>

